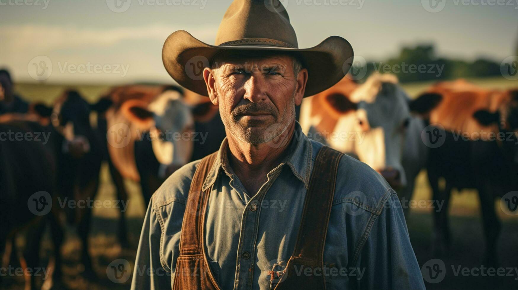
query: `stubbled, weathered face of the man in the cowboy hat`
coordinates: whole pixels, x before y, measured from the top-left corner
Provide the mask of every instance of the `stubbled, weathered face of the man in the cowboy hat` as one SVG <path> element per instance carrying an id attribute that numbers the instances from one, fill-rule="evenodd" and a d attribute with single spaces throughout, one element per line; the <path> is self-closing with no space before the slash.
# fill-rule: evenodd
<path id="1" fill-rule="evenodd" d="M 300 105 L 304 90 L 300 95 L 301 83 L 291 56 L 221 55 L 216 62 L 211 100 L 219 105 L 229 133 L 243 142 L 260 144 L 279 136 L 294 122 L 295 105 Z M 306 70 L 301 73 L 307 74 Z"/>

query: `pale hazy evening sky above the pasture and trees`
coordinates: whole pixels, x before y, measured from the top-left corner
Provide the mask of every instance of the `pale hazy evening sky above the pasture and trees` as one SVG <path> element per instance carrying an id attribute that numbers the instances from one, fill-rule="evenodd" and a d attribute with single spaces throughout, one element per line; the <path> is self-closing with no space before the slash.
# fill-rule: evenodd
<path id="1" fill-rule="evenodd" d="M 518 0 L 281 2 L 299 48 L 338 35 L 367 60 L 386 60 L 402 46 L 421 43 L 435 44 L 439 56 L 467 61 L 500 63 L 516 53 Z M 0 67 L 18 82 L 171 82 L 162 64 L 164 40 L 186 30 L 213 44 L 230 3 L 0 0 Z"/>

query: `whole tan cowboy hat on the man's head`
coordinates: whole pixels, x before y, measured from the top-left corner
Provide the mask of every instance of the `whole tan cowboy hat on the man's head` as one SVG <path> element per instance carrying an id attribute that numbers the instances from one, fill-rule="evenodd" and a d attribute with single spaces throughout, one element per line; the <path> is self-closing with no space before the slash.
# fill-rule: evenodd
<path id="1" fill-rule="evenodd" d="M 349 71 L 353 57 L 351 45 L 340 36 L 330 36 L 314 47 L 299 49 L 295 30 L 279 0 L 234 0 L 223 16 L 215 45 L 179 30 L 165 40 L 162 61 L 176 82 L 208 96 L 203 69 L 225 50 L 294 54 L 308 69 L 304 96 L 322 92 L 340 81 Z"/>

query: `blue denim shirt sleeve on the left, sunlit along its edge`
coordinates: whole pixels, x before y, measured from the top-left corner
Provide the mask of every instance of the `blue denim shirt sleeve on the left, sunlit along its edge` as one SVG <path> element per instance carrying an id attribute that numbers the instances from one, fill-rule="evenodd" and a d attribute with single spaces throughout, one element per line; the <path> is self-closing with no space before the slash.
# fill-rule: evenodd
<path id="1" fill-rule="evenodd" d="M 162 229 L 151 199 L 138 243 L 131 289 L 171 289 L 170 270 L 160 262 Z"/>

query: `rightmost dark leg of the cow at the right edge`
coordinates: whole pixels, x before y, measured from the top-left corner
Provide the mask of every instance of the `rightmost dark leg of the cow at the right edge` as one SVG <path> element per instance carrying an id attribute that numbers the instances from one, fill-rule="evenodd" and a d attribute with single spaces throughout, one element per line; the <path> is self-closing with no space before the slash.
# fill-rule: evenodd
<path id="1" fill-rule="evenodd" d="M 480 187 L 478 192 L 486 241 L 484 263 L 488 264 L 488 266 L 496 266 L 496 242 L 500 234 L 501 225 L 495 212 L 495 199 L 492 191 L 487 190 L 487 186 Z"/>

